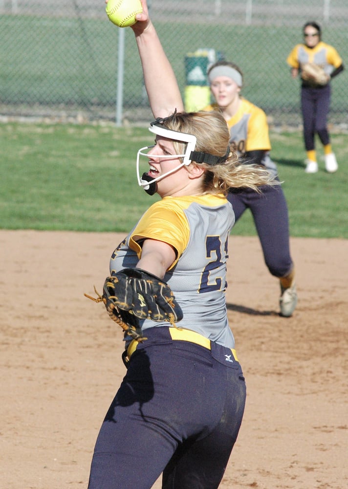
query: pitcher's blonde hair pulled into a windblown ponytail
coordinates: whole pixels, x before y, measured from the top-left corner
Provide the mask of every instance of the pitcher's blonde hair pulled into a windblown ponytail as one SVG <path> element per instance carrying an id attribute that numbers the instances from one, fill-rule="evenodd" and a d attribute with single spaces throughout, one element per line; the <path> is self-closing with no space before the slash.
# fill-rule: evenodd
<path id="1" fill-rule="evenodd" d="M 250 188 L 260 191 L 261 185 L 278 185 L 278 180 L 263 165 L 242 164 L 237 153 L 230 149 L 230 134 L 219 111 L 175 112 L 163 119 L 163 126 L 172 131 L 196 136 L 195 151 L 225 157 L 221 163 L 197 163 L 205 169 L 202 194 L 227 195 L 230 188 Z M 184 154 L 185 143 L 173 141 L 178 155 Z M 229 153 L 227 153 L 229 151 Z"/>

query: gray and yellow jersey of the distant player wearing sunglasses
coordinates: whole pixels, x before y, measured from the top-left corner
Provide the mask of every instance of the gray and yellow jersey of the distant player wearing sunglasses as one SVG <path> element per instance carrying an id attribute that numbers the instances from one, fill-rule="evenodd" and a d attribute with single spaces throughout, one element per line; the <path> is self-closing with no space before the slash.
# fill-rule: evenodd
<path id="1" fill-rule="evenodd" d="M 327 75 L 342 65 L 342 58 L 333 46 L 320 41 L 313 48 L 305 44 L 297 44 L 286 59 L 292 68 L 299 68 L 304 63 L 314 63 L 322 67 Z"/>

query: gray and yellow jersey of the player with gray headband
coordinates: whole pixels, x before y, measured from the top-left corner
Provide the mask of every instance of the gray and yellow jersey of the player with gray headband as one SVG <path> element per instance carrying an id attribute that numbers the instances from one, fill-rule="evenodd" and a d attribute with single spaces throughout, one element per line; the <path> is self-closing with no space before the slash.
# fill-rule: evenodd
<path id="1" fill-rule="evenodd" d="M 205 111 L 219 110 L 217 104 L 209 105 Z M 267 117 L 264 111 L 245 98 L 240 98 L 239 109 L 230 119 L 226 121 L 230 132 L 230 144 L 239 157 L 243 157 L 247 151 L 262 150 L 262 165 L 270 173 L 277 175 L 277 165 L 272 161 L 269 151 L 271 143 L 269 140 Z"/>

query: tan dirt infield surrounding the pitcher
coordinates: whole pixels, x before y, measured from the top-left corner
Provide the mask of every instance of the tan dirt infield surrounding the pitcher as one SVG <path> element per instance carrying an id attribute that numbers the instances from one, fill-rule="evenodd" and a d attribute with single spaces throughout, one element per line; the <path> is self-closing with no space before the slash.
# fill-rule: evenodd
<path id="1" fill-rule="evenodd" d="M 121 330 L 83 294 L 101 289 L 123 238 L 0 231 L 3 489 L 87 488 L 125 368 Z M 227 302 L 247 404 L 220 488 L 348 487 L 348 241 L 292 239 L 291 250 L 299 304 L 282 318 L 258 239 L 230 238 Z"/>

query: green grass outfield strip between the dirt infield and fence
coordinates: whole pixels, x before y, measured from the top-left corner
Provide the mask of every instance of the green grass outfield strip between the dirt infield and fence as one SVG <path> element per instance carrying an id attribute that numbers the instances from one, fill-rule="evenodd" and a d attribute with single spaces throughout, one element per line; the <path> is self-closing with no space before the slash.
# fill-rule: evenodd
<path id="1" fill-rule="evenodd" d="M 333 134 L 339 171 L 304 173 L 300 133 L 271 133 L 292 236 L 348 238 L 348 135 Z M 136 181 L 147 128 L 0 125 L 0 228 L 126 232 L 156 199 Z M 319 145 L 318 145 L 319 146 Z M 320 154 L 320 151 L 318 150 Z M 249 211 L 236 235 L 255 235 Z"/>

